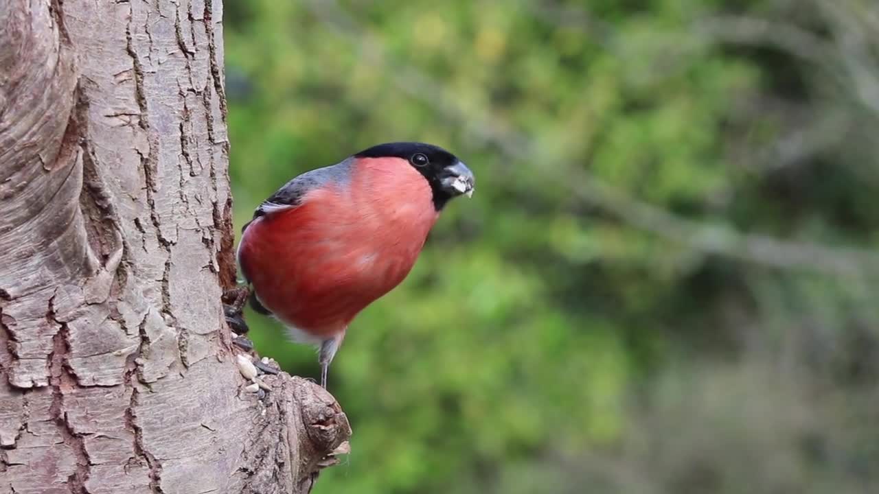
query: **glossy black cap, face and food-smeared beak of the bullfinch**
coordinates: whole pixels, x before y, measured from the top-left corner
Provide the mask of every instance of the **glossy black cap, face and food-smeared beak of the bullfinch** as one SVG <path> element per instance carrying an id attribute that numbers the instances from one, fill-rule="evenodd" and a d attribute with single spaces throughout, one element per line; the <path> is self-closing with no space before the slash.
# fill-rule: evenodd
<path id="1" fill-rule="evenodd" d="M 431 186 L 437 211 L 459 195 L 470 197 L 476 190 L 473 172 L 456 156 L 424 142 L 388 142 L 354 155 L 355 158 L 399 158 L 418 171 Z"/>

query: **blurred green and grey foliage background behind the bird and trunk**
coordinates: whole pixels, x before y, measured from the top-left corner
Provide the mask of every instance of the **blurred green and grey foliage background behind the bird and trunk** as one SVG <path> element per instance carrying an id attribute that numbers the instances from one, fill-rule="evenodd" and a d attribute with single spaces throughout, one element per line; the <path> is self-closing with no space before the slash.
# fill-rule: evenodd
<path id="1" fill-rule="evenodd" d="M 379 142 L 478 181 L 348 332 L 352 454 L 317 493 L 879 490 L 874 0 L 228 0 L 224 23 L 236 231 Z"/>

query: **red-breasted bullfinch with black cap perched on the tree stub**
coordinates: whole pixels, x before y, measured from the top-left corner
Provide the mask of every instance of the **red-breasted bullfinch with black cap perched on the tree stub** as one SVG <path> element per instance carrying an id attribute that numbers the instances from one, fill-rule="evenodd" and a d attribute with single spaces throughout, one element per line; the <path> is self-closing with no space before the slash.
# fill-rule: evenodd
<path id="1" fill-rule="evenodd" d="M 302 173 L 262 201 L 236 252 L 258 313 L 316 345 L 321 386 L 360 311 L 399 285 L 449 200 L 476 178 L 424 142 L 387 142 Z"/>

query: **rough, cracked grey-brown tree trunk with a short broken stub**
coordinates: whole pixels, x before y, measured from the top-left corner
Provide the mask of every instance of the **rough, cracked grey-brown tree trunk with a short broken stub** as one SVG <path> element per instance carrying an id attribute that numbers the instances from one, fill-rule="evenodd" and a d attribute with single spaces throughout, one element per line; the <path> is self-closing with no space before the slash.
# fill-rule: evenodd
<path id="1" fill-rule="evenodd" d="M 0 493 L 305 492 L 350 433 L 236 367 L 221 18 L 0 4 Z"/>

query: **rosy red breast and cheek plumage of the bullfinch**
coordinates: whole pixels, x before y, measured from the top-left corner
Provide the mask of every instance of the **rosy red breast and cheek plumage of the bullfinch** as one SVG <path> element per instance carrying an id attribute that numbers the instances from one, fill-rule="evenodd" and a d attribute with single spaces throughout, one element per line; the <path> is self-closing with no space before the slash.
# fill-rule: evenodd
<path id="1" fill-rule="evenodd" d="M 346 179 L 251 222 L 238 259 L 266 309 L 330 338 L 403 281 L 437 217 L 430 185 L 406 160 L 357 158 Z"/>

